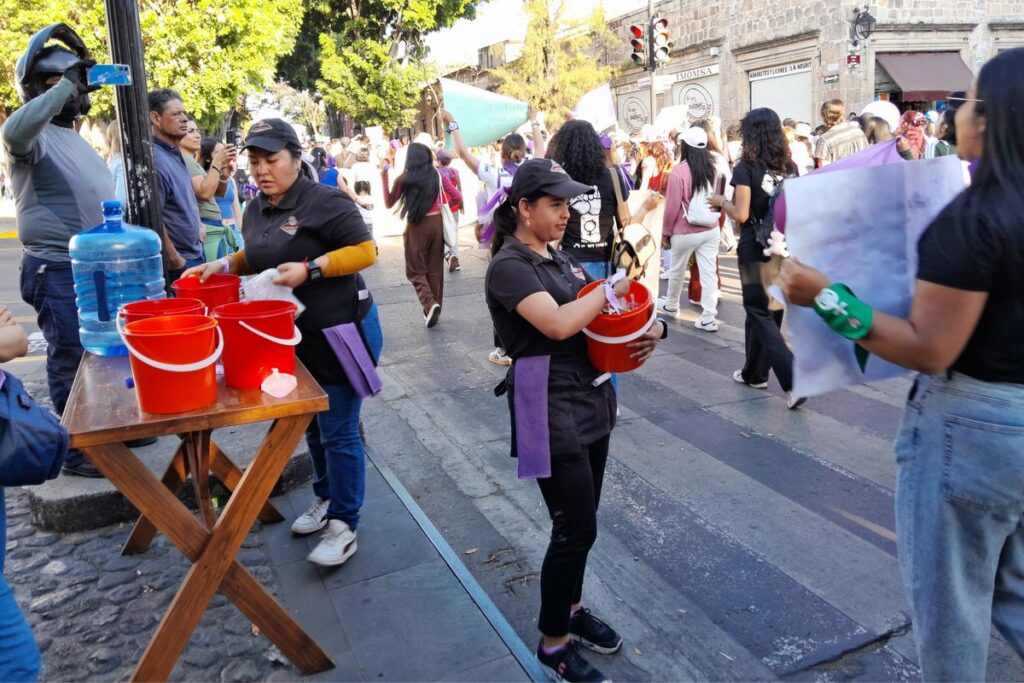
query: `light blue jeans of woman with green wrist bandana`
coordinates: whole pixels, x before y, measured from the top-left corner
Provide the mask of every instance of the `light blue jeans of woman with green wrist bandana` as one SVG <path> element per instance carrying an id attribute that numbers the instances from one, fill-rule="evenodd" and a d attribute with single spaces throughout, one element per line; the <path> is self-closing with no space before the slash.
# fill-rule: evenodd
<path id="1" fill-rule="evenodd" d="M 896 538 L 926 681 L 1024 656 L 1024 385 L 920 376 L 896 438 Z"/>

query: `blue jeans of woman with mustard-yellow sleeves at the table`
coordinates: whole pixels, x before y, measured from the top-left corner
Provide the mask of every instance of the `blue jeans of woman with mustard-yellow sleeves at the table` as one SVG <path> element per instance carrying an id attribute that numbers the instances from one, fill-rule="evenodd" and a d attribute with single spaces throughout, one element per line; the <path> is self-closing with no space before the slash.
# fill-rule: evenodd
<path id="1" fill-rule="evenodd" d="M 362 318 L 361 327 L 370 355 L 377 361 L 384 339 L 376 303 Z M 331 501 L 328 519 L 340 519 L 354 531 L 367 483 L 367 454 L 359 437 L 362 400 L 347 383 L 325 386 L 324 391 L 331 407 L 317 414 L 306 430 L 313 463 L 313 494 Z"/>

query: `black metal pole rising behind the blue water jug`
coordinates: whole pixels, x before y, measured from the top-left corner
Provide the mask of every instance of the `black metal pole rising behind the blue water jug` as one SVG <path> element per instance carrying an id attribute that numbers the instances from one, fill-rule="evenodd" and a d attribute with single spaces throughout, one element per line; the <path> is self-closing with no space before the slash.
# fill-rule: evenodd
<path id="1" fill-rule="evenodd" d="M 114 63 L 128 65 L 132 85 L 115 88 L 121 148 L 128 186 L 125 219 L 152 228 L 164 242 L 164 223 L 157 203 L 157 172 L 153 162 L 153 130 L 142 59 L 142 30 L 136 0 L 104 0 L 106 31 Z"/>

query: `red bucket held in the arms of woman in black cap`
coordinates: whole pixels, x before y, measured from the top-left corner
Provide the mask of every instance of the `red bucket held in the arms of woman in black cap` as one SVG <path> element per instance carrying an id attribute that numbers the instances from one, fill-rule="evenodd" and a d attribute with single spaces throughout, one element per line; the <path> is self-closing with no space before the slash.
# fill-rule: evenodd
<path id="1" fill-rule="evenodd" d="M 601 287 L 603 280 L 591 283 L 580 290 L 577 298 L 587 296 Z M 583 329 L 587 335 L 587 354 L 595 368 L 602 373 L 626 373 L 636 370 L 642 362 L 631 358 L 627 344 L 639 339 L 654 324 L 656 309 L 650 291 L 637 282 L 630 283 L 630 293 L 625 299 L 634 302 L 633 310 L 623 313 L 598 313 Z"/>

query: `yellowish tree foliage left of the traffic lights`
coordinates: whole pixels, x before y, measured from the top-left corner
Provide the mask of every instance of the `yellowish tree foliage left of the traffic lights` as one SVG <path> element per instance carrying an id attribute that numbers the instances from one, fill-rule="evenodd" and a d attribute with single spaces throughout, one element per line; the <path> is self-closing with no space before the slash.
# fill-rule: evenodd
<path id="1" fill-rule="evenodd" d="M 621 41 L 598 8 L 584 19 L 566 19 L 564 5 L 527 0 L 529 16 L 522 53 L 493 69 L 499 92 L 529 102 L 560 120 L 586 92 L 607 83 L 615 67 L 609 58 Z"/>

